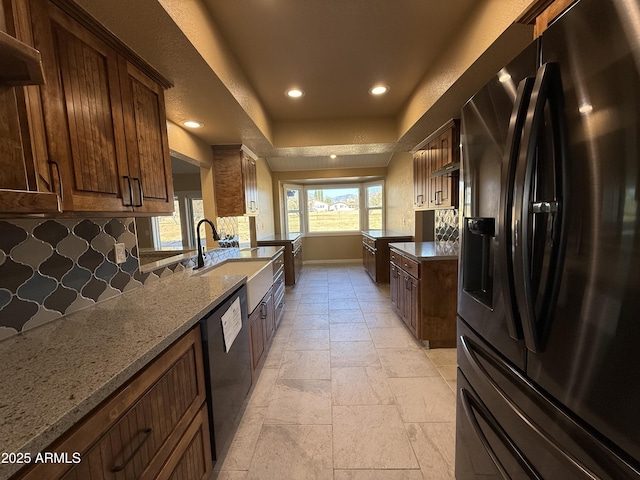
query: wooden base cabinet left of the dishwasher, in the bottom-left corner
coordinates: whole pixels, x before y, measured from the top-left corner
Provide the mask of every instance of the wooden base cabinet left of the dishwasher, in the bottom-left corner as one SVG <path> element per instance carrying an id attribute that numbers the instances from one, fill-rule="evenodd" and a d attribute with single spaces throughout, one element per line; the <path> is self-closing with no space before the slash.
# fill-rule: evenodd
<path id="1" fill-rule="evenodd" d="M 200 328 L 195 327 L 47 451 L 80 462 L 40 463 L 12 479 L 209 478 L 213 461 Z"/>

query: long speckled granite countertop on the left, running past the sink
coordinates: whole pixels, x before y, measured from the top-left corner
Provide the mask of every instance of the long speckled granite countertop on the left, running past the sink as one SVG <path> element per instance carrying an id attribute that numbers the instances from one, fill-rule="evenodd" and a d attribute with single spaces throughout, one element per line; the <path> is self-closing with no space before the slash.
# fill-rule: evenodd
<path id="1" fill-rule="evenodd" d="M 282 247 L 225 250 L 207 266 Z M 245 283 L 188 269 L 0 341 L 0 452 L 43 451 Z"/>

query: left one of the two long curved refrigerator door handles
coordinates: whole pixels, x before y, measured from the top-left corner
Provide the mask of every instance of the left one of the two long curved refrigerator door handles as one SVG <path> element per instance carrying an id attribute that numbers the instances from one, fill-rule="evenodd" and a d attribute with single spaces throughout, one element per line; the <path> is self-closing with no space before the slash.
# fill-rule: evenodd
<path id="1" fill-rule="evenodd" d="M 499 265 L 502 278 L 504 279 L 501 282 L 502 295 L 506 302 L 509 335 L 516 340 L 522 338 L 522 325 L 520 324 L 517 300 L 515 298 L 513 256 L 514 245 L 518 245 L 518 224 L 516 222 L 515 228 L 513 227 L 513 196 L 516 166 L 520 155 L 520 140 L 529 108 L 533 84 L 534 79 L 532 77 L 526 77 L 518 84 L 516 91 L 516 100 L 513 104 L 513 110 L 509 120 L 509 130 L 507 131 L 507 148 L 505 149 L 503 161 L 503 165 L 505 165 L 506 168 L 503 169 L 504 173 L 502 178 L 502 185 L 505 187 L 500 198 L 500 218 L 498 219 L 500 240 L 498 247 L 498 254 L 500 256 Z"/>

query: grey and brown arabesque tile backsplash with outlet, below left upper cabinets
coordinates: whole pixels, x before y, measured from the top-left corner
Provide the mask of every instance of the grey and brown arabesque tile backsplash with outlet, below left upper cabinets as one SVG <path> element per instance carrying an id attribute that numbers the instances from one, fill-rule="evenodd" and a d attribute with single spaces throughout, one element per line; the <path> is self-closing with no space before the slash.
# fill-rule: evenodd
<path id="1" fill-rule="evenodd" d="M 0 338 L 142 286 L 132 218 L 0 220 L 0 232 Z"/>

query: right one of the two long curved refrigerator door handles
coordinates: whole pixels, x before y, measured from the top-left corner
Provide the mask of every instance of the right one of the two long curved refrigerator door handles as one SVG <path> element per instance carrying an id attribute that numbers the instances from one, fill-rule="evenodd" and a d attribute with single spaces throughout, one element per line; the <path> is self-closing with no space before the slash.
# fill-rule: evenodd
<path id="1" fill-rule="evenodd" d="M 543 150 L 538 148 L 538 142 L 541 134 L 546 132 L 545 118 L 550 120 L 551 149 Z M 546 154 L 553 156 L 552 163 L 542 168 L 545 160 L 549 160 Z M 536 75 L 514 184 L 513 221 L 515 235 L 519 236 L 514 246 L 515 297 L 525 344 L 534 353 L 544 348 L 560 289 L 566 244 L 566 157 L 567 134 L 560 69 L 558 64 L 550 62 L 542 65 Z M 551 180 L 550 186 L 546 186 L 545 180 Z M 543 191 L 545 188 L 552 190 L 554 198 L 537 198 L 549 193 Z M 537 215 L 545 216 L 536 219 Z M 548 239 L 543 238 L 546 215 L 551 216 L 550 247 Z M 545 262 L 547 249 L 548 259 Z M 545 264 L 546 270 L 543 268 Z"/>

